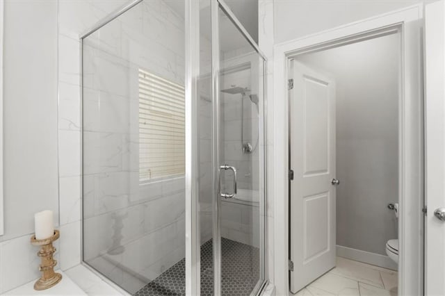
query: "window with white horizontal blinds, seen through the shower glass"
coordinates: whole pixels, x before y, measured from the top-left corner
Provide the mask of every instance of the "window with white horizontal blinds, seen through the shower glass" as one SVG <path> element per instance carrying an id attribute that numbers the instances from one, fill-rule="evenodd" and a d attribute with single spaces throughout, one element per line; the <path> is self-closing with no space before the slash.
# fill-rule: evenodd
<path id="1" fill-rule="evenodd" d="M 139 69 L 139 181 L 185 172 L 184 86 Z"/>

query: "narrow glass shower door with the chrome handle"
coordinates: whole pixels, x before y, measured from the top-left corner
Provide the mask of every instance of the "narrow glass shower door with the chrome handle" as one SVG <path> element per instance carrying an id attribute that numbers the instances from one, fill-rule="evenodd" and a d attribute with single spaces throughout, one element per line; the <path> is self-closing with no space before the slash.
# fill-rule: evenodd
<path id="1" fill-rule="evenodd" d="M 250 295 L 265 267 L 264 59 L 223 6 L 218 20 L 220 291 Z"/>

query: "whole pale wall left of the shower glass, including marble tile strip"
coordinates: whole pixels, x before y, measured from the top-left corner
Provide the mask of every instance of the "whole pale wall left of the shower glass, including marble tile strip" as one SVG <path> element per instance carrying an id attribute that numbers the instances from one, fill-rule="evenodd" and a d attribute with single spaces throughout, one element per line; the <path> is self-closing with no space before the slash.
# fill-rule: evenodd
<path id="1" fill-rule="evenodd" d="M 56 268 L 80 263 L 79 36 L 126 2 L 5 1 L 0 293 L 40 277 L 29 239 L 42 209 L 60 229 Z"/>

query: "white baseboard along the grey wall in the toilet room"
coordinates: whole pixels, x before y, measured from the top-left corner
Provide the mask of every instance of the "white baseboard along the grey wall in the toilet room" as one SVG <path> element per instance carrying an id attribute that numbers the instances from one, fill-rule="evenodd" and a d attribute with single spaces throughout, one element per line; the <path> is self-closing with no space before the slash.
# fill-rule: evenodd
<path id="1" fill-rule="evenodd" d="M 337 245 L 337 256 L 380 266 L 381 268 L 397 270 L 397 263 L 392 261 L 391 258 L 389 258 L 388 256 L 366 252 L 360 249 L 353 249 L 350 247 Z"/>

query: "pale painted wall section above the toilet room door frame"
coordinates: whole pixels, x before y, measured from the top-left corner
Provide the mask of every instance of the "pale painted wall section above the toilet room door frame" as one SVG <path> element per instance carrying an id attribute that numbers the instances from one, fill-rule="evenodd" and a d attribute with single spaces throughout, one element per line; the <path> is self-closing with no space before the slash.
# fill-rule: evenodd
<path id="1" fill-rule="evenodd" d="M 275 43 L 293 40 L 422 2 L 431 1 L 274 0 Z"/>

